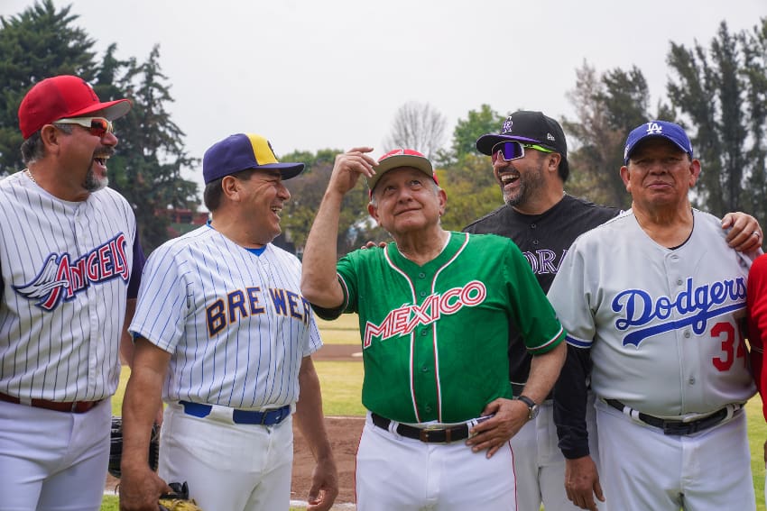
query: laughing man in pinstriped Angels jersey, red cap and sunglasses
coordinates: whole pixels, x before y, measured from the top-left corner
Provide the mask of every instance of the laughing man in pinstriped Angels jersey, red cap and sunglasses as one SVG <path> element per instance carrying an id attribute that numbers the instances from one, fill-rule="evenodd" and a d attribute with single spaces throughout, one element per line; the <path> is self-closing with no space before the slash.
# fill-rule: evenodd
<path id="1" fill-rule="evenodd" d="M 0 508 L 101 504 L 110 397 L 143 268 L 134 212 L 106 187 L 127 99 L 81 78 L 19 106 L 27 168 L 0 181 Z"/>

